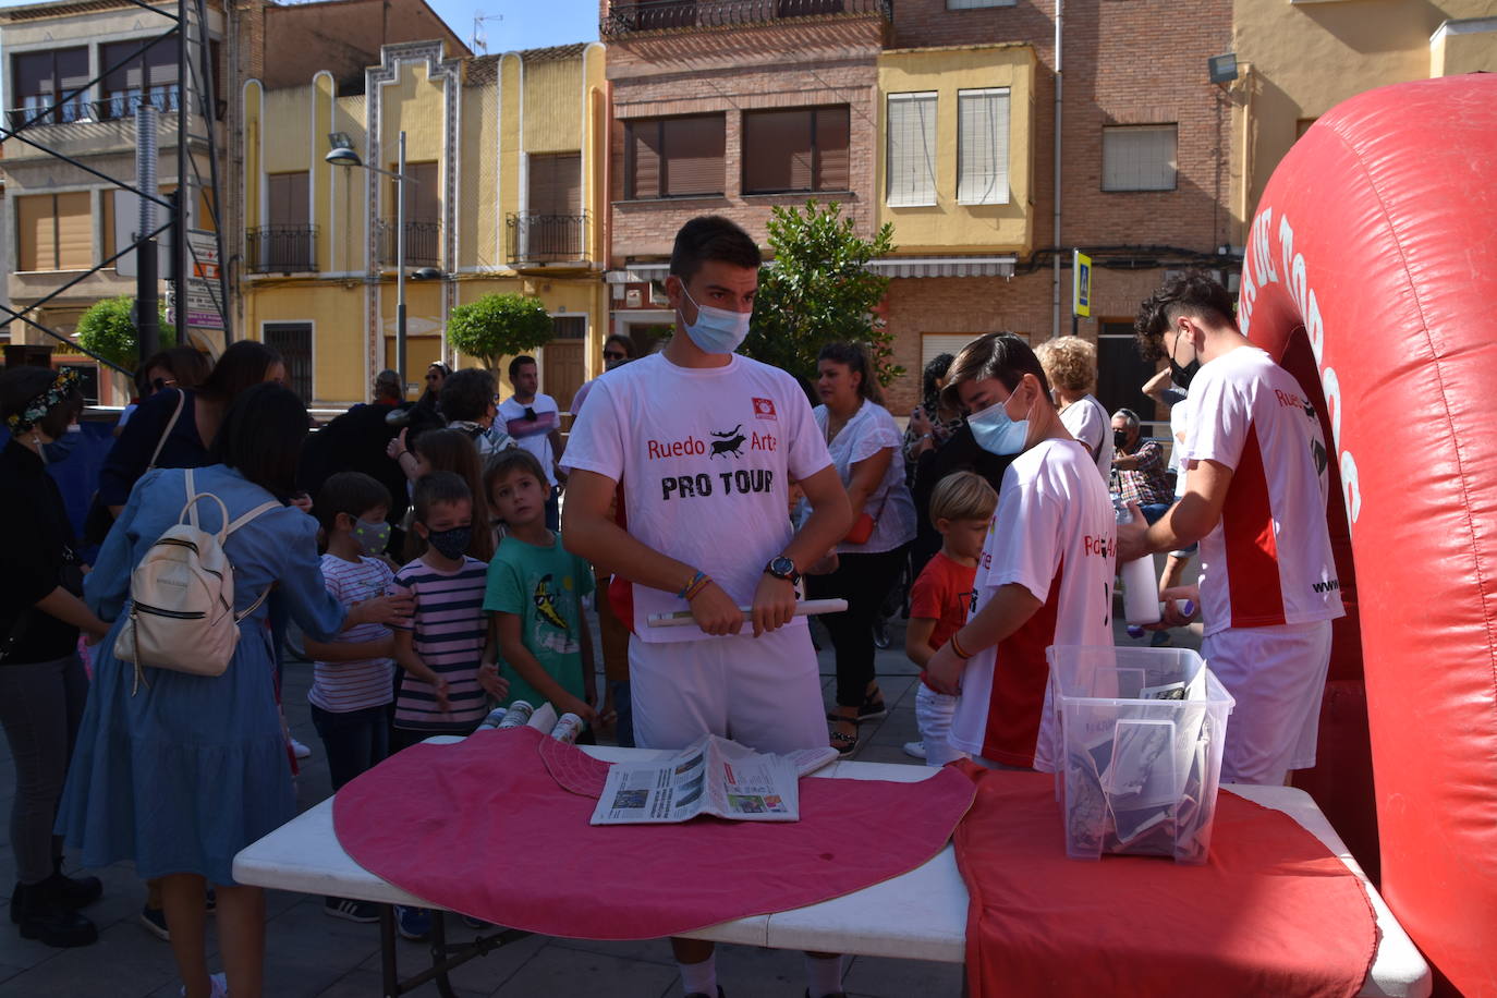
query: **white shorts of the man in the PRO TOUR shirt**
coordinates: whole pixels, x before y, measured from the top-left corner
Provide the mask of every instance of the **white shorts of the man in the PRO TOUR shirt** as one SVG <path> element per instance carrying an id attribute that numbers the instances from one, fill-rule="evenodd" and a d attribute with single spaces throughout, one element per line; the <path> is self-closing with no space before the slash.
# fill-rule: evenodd
<path id="1" fill-rule="evenodd" d="M 811 633 L 642 642 L 629 636 L 629 697 L 639 748 L 686 748 L 702 735 L 766 753 L 826 745 Z"/>

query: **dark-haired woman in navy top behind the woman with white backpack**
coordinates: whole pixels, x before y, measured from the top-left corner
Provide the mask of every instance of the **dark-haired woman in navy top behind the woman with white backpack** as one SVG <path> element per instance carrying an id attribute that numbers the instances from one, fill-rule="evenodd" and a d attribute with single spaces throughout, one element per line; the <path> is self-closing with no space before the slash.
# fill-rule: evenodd
<path id="1" fill-rule="evenodd" d="M 99 501 L 114 516 L 150 468 L 196 468 L 229 405 L 262 382 L 286 380 L 286 364 L 272 347 L 253 340 L 232 344 L 198 388 L 178 383 L 141 402 L 99 471 Z"/>

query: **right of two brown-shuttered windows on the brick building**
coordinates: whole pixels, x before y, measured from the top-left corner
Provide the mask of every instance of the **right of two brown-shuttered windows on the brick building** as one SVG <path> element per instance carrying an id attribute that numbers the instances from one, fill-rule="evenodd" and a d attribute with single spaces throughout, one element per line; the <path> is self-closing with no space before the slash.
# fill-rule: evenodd
<path id="1" fill-rule="evenodd" d="M 847 108 L 744 114 L 744 193 L 847 190 Z"/>

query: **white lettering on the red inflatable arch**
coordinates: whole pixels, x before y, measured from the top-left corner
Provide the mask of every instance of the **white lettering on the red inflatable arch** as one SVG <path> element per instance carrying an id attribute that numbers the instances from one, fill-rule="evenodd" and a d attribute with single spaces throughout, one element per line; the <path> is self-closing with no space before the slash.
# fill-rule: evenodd
<path id="1" fill-rule="evenodd" d="M 1248 233 L 1248 248 L 1243 259 L 1243 289 L 1238 298 L 1238 328 L 1247 335 L 1253 319 L 1253 305 L 1260 289 L 1278 283 L 1278 271 L 1274 269 L 1274 253 L 1271 247 L 1271 232 L 1274 223 L 1272 206 L 1263 206 L 1253 218 Z M 1341 443 L 1341 380 L 1335 370 L 1325 365 L 1325 320 L 1320 316 L 1320 302 L 1310 286 L 1310 268 L 1304 253 L 1295 253 L 1295 227 L 1289 215 L 1278 218 L 1278 265 L 1284 274 L 1284 292 L 1304 322 L 1305 337 L 1310 340 L 1310 350 L 1314 353 L 1316 368 L 1320 374 L 1320 388 L 1325 391 L 1325 402 L 1331 416 L 1332 446 Z M 1350 450 L 1341 450 L 1341 488 L 1346 491 L 1346 516 L 1350 524 L 1362 512 L 1362 486 L 1356 474 L 1356 458 Z"/>

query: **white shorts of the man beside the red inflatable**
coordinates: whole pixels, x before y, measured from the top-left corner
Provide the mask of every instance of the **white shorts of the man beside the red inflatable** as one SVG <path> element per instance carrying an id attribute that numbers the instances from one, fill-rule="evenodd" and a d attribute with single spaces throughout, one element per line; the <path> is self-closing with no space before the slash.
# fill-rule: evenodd
<path id="1" fill-rule="evenodd" d="M 1222 783 L 1277 787 L 1290 769 L 1314 766 L 1331 621 L 1228 628 L 1207 634 L 1201 655 L 1237 700 Z"/>

